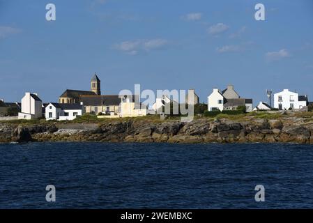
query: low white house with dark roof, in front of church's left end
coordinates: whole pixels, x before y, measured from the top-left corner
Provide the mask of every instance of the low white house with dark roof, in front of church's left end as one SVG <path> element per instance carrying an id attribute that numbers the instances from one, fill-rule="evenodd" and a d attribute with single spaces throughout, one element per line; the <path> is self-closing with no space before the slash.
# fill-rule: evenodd
<path id="1" fill-rule="evenodd" d="M 80 104 L 49 103 L 45 107 L 46 120 L 74 120 L 84 114 L 84 106 Z"/>

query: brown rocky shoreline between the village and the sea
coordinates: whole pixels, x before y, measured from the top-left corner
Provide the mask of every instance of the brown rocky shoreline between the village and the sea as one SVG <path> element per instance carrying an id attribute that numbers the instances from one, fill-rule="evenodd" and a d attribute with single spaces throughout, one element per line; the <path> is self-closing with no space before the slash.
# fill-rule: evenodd
<path id="1" fill-rule="evenodd" d="M 0 142 L 99 141 L 167 143 L 299 143 L 313 144 L 313 121 L 286 117 L 197 118 L 180 121 L 112 121 L 107 123 L 0 123 Z"/>

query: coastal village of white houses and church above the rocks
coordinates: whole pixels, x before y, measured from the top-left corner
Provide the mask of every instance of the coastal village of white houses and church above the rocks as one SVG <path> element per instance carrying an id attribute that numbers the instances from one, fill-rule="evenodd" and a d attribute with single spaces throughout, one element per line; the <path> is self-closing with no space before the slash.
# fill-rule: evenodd
<path id="1" fill-rule="evenodd" d="M 150 107 L 140 103 L 139 98 L 139 95 L 102 95 L 101 81 L 95 73 L 91 79 L 90 91 L 67 89 L 59 96 L 58 102 L 43 102 L 38 93 L 30 92 L 24 94 L 21 102 L 6 102 L 1 99 L 0 121 L 40 118 L 45 118 L 47 121 L 72 121 L 84 114 L 93 114 L 98 118 L 162 115 L 165 105 L 179 104 L 171 95 L 162 95 L 162 98 L 156 98 L 155 103 Z M 307 112 L 308 107 L 313 104 L 313 102 L 309 102 L 307 95 L 299 95 L 288 89 L 274 93 L 273 106 L 271 105 L 271 91 L 268 91 L 268 98 L 269 103 L 259 102 L 254 107 L 252 98 L 241 98 L 234 86 L 228 85 L 222 91 L 217 88 L 213 89 L 212 93 L 208 95 L 207 105 L 201 104 L 197 93 L 194 89 L 190 89 L 184 103 L 195 108 L 200 107 L 201 112 L 196 112 L 196 114 L 204 114 L 204 116 L 212 116 L 220 112 L 236 114 L 234 111 L 238 112 L 238 110 L 245 113 L 284 110 Z"/>

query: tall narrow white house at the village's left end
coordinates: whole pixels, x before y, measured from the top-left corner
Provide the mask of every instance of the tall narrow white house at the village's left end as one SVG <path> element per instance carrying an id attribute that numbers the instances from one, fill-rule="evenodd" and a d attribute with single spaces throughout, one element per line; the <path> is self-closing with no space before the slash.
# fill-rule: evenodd
<path id="1" fill-rule="evenodd" d="M 19 119 L 36 119 L 43 116 L 43 102 L 37 93 L 26 92 L 22 98 L 21 112 L 18 114 Z"/>

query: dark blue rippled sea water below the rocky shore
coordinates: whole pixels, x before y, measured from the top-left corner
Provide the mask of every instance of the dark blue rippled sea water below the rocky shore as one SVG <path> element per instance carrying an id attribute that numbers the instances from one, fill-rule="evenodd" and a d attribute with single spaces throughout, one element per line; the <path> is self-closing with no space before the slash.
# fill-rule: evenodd
<path id="1" fill-rule="evenodd" d="M 0 208 L 313 208 L 312 197 L 313 146 L 0 144 Z"/>

